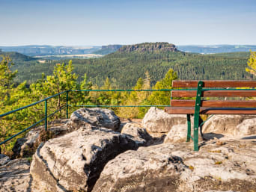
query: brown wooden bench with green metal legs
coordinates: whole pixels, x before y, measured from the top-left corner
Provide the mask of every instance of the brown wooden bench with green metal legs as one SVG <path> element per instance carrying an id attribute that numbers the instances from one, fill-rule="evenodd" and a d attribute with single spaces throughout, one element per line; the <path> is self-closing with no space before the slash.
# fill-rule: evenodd
<path id="1" fill-rule="evenodd" d="M 200 114 L 256 114 L 256 101 L 223 99 L 225 97 L 232 97 L 232 99 L 235 97 L 256 97 L 255 89 L 247 90 L 248 87 L 256 87 L 256 81 L 173 81 L 172 87 L 181 89 L 171 91 L 171 107 L 166 107 L 165 112 L 168 114 L 187 114 L 186 141 L 189 142 L 190 138 L 194 141 L 195 151 L 199 149 L 198 129 L 203 124 L 200 123 Z M 222 99 L 207 100 L 206 97 Z M 191 114 L 194 114 L 193 137 L 191 137 Z"/>

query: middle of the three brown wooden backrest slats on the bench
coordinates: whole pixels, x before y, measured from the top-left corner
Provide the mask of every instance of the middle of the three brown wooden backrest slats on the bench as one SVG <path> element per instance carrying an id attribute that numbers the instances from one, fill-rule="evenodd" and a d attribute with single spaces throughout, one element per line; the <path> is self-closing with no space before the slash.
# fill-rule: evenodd
<path id="1" fill-rule="evenodd" d="M 195 97 L 196 90 L 173 90 L 172 97 Z M 256 90 L 205 90 L 202 96 L 212 97 L 251 97 L 256 96 Z"/>

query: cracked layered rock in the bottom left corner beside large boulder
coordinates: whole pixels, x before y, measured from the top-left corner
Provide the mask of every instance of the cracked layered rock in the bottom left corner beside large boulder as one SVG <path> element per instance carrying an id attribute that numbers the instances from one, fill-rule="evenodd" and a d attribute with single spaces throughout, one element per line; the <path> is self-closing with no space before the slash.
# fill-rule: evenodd
<path id="1" fill-rule="evenodd" d="M 0 192 L 7 191 L 31 191 L 31 176 L 27 159 L 15 159 L 0 166 Z"/>

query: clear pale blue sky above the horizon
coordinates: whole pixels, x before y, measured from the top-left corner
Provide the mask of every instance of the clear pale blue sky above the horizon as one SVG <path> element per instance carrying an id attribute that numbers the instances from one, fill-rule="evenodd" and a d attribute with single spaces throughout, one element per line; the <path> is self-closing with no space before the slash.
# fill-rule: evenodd
<path id="1" fill-rule="evenodd" d="M 0 0 L 0 46 L 256 44 L 255 0 Z"/>

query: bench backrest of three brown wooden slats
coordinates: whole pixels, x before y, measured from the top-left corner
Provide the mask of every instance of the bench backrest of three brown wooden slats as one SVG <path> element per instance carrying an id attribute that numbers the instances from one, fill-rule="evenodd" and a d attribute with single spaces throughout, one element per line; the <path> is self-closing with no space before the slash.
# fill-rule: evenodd
<path id="1" fill-rule="evenodd" d="M 171 97 L 195 97 L 198 81 L 173 81 L 172 87 L 177 88 L 194 88 L 195 90 L 173 90 Z M 256 87 L 256 81 L 203 81 L 204 88 L 216 88 L 216 90 L 202 90 L 201 97 L 256 97 L 256 90 L 234 90 L 237 87 Z M 218 90 L 227 89 L 227 90 Z M 228 90 L 231 89 L 231 90 Z M 195 107 L 195 99 L 182 100 L 171 99 L 172 107 Z M 209 100 L 201 101 L 201 107 L 210 108 L 256 108 L 256 101 L 239 101 L 239 100 Z"/>

